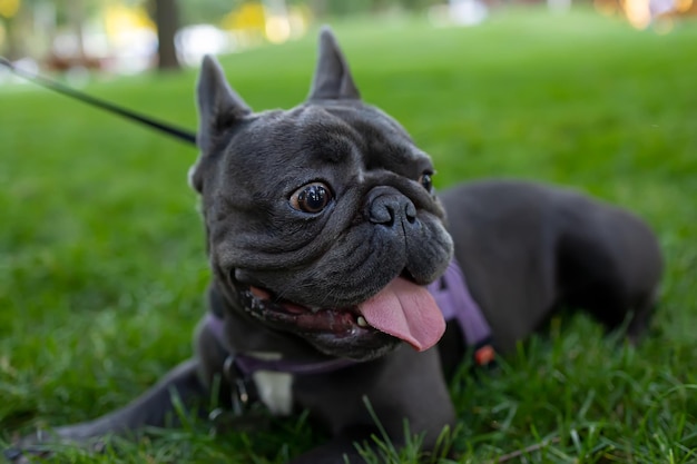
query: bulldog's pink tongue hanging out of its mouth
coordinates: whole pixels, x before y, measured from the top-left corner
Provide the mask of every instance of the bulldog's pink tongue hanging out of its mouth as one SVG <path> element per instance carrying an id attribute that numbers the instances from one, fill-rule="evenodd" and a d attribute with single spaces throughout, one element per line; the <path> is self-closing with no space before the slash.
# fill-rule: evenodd
<path id="1" fill-rule="evenodd" d="M 435 345 L 445 332 L 443 314 L 429 290 L 401 277 L 360 305 L 359 312 L 371 326 L 419 352 Z"/>

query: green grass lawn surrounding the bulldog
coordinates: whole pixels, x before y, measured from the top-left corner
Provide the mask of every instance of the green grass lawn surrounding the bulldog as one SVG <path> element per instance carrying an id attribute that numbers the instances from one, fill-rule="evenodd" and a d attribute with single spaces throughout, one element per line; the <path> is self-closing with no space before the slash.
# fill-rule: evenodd
<path id="1" fill-rule="evenodd" d="M 660 312 L 640 347 L 577 316 L 500 372 L 463 369 L 452 383 L 460 461 L 546 444 L 509 462 L 697 462 L 697 23 L 656 34 L 529 11 L 477 28 L 402 19 L 335 31 L 364 99 L 432 155 L 440 188 L 491 176 L 575 186 L 646 218 L 665 253 Z M 314 59 L 310 34 L 223 62 L 266 109 L 306 96 Z M 187 71 L 87 90 L 194 128 L 194 81 Z M 208 270 L 186 185 L 192 147 L 30 86 L 0 87 L 0 147 L 1 446 L 124 405 L 187 357 Z M 62 461 L 281 463 L 317 440 L 304 416 L 217 438 L 202 422 Z"/>

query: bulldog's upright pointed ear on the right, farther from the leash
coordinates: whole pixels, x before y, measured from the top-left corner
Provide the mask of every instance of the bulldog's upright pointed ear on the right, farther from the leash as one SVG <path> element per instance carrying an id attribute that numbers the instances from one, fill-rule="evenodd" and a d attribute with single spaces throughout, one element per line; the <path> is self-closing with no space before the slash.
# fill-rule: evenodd
<path id="1" fill-rule="evenodd" d="M 320 56 L 308 100 L 360 100 L 346 59 L 328 26 L 320 30 Z"/>

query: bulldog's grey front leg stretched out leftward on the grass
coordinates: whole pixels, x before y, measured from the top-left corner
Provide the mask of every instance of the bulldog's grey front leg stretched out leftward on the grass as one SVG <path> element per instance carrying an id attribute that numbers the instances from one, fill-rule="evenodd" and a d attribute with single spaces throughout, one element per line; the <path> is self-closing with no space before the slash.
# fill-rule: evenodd
<path id="1" fill-rule="evenodd" d="M 155 386 L 127 406 L 94 421 L 67 425 L 50 432 L 37 432 L 22 438 L 13 450 L 6 451 L 10 461 L 24 462 L 23 455 L 45 455 L 50 444 L 75 444 L 94 448 L 99 438 L 108 435 L 125 435 L 153 426 L 176 425 L 178 417 L 174 399 L 192 404 L 205 398 L 206 388 L 199 381 L 198 361 L 189 359 L 171 369 Z"/>

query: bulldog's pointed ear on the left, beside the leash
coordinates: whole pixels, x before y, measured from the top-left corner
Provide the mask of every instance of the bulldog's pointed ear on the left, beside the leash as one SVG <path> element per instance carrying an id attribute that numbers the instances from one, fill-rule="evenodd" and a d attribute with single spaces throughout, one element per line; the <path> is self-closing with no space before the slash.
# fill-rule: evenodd
<path id="1" fill-rule="evenodd" d="M 252 110 L 229 87 L 218 61 L 207 55 L 200 67 L 197 86 L 198 134 L 196 144 L 202 154 L 213 148 L 215 139 Z"/>

